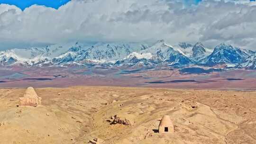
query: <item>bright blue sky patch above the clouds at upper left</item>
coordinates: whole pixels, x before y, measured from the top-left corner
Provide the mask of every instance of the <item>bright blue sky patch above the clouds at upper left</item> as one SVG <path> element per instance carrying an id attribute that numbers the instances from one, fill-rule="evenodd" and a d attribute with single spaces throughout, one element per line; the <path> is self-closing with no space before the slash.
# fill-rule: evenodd
<path id="1" fill-rule="evenodd" d="M 24 10 L 34 4 L 58 9 L 68 1 L 70 0 L 0 0 L 0 3 L 15 5 Z"/>

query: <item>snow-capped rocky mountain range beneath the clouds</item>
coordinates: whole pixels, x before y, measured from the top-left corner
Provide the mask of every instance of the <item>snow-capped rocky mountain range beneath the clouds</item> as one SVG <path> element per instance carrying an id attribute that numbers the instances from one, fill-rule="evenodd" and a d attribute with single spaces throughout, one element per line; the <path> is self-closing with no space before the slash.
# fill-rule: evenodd
<path id="1" fill-rule="evenodd" d="M 214 49 L 198 42 L 172 46 L 159 40 L 145 43 L 67 43 L 27 49 L 0 51 L 0 66 L 68 66 L 98 65 L 227 65 L 234 68 L 256 69 L 256 52 L 224 43 Z"/>

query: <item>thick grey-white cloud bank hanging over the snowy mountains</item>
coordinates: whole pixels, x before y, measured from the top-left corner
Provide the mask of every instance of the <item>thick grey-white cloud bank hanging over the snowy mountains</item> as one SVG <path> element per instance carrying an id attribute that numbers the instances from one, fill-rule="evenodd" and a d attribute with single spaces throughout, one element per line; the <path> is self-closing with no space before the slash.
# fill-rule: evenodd
<path id="1" fill-rule="evenodd" d="M 256 3 L 249 0 L 72 0 L 59 9 L 0 5 L 0 48 L 165 39 L 256 49 Z"/>

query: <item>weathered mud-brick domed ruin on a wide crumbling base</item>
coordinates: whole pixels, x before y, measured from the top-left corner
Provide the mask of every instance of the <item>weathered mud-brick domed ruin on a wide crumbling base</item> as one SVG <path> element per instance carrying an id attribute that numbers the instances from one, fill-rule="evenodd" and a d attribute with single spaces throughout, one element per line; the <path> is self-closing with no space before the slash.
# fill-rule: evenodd
<path id="1" fill-rule="evenodd" d="M 41 105 L 41 97 L 38 97 L 37 92 L 33 87 L 28 87 L 25 91 L 24 97 L 19 98 L 19 106 L 33 106 Z"/>

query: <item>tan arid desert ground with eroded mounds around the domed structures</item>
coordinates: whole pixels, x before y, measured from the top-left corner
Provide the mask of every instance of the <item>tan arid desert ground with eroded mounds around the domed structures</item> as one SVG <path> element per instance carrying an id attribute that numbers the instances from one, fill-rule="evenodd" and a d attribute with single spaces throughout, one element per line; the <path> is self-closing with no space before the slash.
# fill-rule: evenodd
<path id="1" fill-rule="evenodd" d="M 25 90 L 0 89 L 0 144 L 256 144 L 256 91 L 36 88 L 42 104 L 19 106 Z"/>

